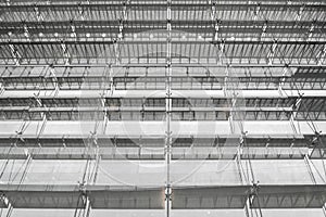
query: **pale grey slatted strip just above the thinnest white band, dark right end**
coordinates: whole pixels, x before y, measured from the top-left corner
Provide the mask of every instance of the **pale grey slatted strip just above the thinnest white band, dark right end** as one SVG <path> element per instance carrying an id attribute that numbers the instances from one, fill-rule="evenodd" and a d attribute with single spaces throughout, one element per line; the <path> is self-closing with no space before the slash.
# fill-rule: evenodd
<path id="1" fill-rule="evenodd" d="M 217 77 L 224 78 L 227 76 L 237 77 L 237 78 L 284 78 L 284 77 L 293 77 L 296 78 L 306 76 L 306 77 L 318 77 L 323 76 L 323 69 L 326 66 L 298 66 L 298 65 L 263 65 L 263 64 L 253 64 L 253 65 L 218 65 L 218 64 L 173 64 L 171 75 L 175 77 Z M 110 69 L 112 71 L 110 75 Z M 53 78 L 54 75 L 57 78 L 103 78 L 103 76 L 110 77 L 149 77 L 149 78 L 164 78 L 164 74 L 161 72 L 165 69 L 164 64 L 126 64 L 126 65 L 106 65 L 106 66 L 97 66 L 97 65 L 70 65 L 70 66 L 52 66 L 52 65 L 21 65 L 21 66 L 1 66 L 0 74 L 3 81 L 9 78 L 29 78 L 26 79 L 26 82 L 33 79 L 42 78 Z M 53 74 L 51 74 L 52 72 Z"/>

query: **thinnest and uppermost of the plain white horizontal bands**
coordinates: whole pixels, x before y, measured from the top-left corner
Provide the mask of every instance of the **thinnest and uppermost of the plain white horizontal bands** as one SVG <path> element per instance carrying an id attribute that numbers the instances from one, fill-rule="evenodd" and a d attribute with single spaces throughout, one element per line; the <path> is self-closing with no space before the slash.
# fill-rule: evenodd
<path id="1" fill-rule="evenodd" d="M 233 87 L 234 88 L 234 87 Z M 202 98 L 212 99 L 230 98 L 233 92 L 238 92 L 238 99 L 241 98 L 298 98 L 300 94 L 304 97 L 326 97 L 326 90 L 172 90 L 171 98 Z M 0 99 L 7 98 L 35 98 L 38 95 L 39 99 L 61 99 L 61 98 L 80 98 L 80 99 L 101 99 L 101 98 L 166 98 L 165 90 L 5 90 L 0 94 Z"/>

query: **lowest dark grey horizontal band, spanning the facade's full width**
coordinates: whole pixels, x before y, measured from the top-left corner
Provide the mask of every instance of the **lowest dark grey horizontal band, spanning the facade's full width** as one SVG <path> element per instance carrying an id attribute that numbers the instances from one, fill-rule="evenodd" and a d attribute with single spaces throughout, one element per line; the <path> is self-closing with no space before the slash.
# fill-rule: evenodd
<path id="1" fill-rule="evenodd" d="M 160 209 L 165 200 L 163 188 L 2 184 L 0 189 L 14 208 L 83 208 L 78 203 L 83 192 L 92 209 Z M 322 208 L 326 191 L 324 184 L 172 188 L 174 209 L 243 208 L 249 199 L 253 199 L 252 208 Z"/>

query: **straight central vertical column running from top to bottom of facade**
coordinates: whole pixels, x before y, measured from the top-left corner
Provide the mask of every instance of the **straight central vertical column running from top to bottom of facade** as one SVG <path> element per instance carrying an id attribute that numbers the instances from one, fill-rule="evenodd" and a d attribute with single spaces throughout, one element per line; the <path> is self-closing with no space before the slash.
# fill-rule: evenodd
<path id="1" fill-rule="evenodd" d="M 171 61 L 171 40 L 172 40 L 172 27 L 171 27 L 171 0 L 166 1 L 167 4 L 167 17 L 166 17 L 166 66 L 165 66 L 165 120 L 166 120 L 166 141 L 165 141 L 165 161 L 166 161 L 166 187 L 165 187 L 165 202 L 166 202 L 166 217 L 170 217 L 171 210 L 171 144 L 172 144 L 172 131 L 171 131 L 171 112 L 172 112 L 172 98 L 171 98 L 171 74 L 172 74 L 172 61 Z"/>

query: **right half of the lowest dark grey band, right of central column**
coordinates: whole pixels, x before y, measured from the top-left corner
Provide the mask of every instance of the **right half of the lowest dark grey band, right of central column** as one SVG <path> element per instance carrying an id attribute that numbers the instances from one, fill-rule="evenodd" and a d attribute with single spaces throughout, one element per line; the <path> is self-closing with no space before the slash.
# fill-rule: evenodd
<path id="1" fill-rule="evenodd" d="M 211 187 L 173 189 L 172 207 L 189 208 L 243 208 L 253 197 L 252 208 L 322 208 L 326 202 L 325 186 L 260 186 Z"/>

